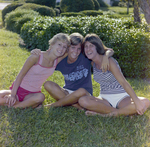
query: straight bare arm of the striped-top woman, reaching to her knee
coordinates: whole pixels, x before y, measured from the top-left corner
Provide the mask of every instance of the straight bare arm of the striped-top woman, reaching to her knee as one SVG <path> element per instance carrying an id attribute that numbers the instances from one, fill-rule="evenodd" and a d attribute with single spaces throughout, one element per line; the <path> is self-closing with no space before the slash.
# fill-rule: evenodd
<path id="1" fill-rule="evenodd" d="M 130 95 L 130 97 L 134 101 L 137 113 L 142 115 L 144 112 L 143 103 L 139 100 L 134 90 L 132 89 L 131 85 L 127 82 L 122 72 L 119 70 L 114 59 L 110 58 L 109 62 L 110 62 L 110 71 L 115 76 L 115 78 L 120 83 L 120 85 L 125 89 L 125 91 Z"/>

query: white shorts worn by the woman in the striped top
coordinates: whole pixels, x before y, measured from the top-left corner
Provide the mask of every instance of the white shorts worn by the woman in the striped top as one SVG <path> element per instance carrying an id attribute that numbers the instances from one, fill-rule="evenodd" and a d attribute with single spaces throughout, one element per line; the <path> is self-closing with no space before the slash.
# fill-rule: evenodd
<path id="1" fill-rule="evenodd" d="M 124 98 L 129 97 L 129 95 L 125 93 L 119 93 L 119 94 L 100 94 L 98 98 L 103 98 L 107 100 L 110 105 L 114 108 L 117 108 L 120 101 L 122 101 Z"/>

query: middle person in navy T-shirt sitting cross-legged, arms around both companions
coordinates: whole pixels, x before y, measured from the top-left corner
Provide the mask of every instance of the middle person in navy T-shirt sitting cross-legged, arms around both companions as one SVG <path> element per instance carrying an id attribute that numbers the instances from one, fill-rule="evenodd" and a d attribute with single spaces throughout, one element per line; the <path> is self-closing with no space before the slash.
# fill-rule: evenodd
<path id="1" fill-rule="evenodd" d="M 91 81 L 91 61 L 81 53 L 83 36 L 79 33 L 70 35 L 71 46 L 69 47 L 68 56 L 65 57 L 56 67 L 60 71 L 65 80 L 64 87 L 47 81 L 44 84 L 48 93 L 57 100 L 53 104 L 46 107 L 59 107 L 73 105 L 78 109 L 83 109 L 78 105 L 78 100 L 84 95 L 93 95 Z M 32 54 L 39 54 L 38 50 L 33 50 Z M 112 49 L 107 49 L 103 57 L 103 71 L 108 68 L 108 57 L 113 54 Z"/>

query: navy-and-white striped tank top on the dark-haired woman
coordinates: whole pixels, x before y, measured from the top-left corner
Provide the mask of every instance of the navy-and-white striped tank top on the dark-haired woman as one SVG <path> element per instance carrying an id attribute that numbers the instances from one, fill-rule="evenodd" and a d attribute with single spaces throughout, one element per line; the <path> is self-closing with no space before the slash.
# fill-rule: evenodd
<path id="1" fill-rule="evenodd" d="M 119 67 L 117 61 L 116 63 Z M 96 68 L 95 63 L 93 64 L 93 75 L 94 80 L 100 84 L 100 94 L 119 94 L 126 92 L 110 71 L 103 73 L 102 70 Z"/>

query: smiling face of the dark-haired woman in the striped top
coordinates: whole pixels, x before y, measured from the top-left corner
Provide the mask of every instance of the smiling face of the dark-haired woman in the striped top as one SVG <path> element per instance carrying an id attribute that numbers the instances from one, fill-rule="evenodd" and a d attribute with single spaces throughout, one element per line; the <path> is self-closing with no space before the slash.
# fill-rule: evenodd
<path id="1" fill-rule="evenodd" d="M 89 41 L 86 41 L 84 44 L 84 52 L 88 59 L 94 59 L 98 54 L 96 50 L 96 46 Z"/>

